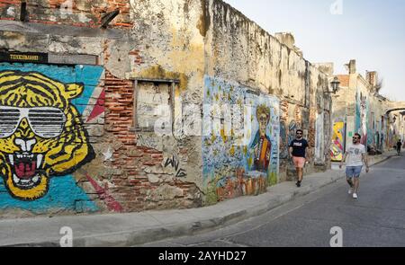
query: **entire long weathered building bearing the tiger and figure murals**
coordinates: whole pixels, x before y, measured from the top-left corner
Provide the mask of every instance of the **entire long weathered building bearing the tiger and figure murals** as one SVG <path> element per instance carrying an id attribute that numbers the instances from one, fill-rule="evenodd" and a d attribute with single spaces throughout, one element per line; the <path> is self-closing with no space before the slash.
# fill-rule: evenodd
<path id="1" fill-rule="evenodd" d="M 229 4 L 24 6 L 0 0 L 1 216 L 256 195 L 292 178 L 298 128 L 330 167 L 329 75 Z"/>

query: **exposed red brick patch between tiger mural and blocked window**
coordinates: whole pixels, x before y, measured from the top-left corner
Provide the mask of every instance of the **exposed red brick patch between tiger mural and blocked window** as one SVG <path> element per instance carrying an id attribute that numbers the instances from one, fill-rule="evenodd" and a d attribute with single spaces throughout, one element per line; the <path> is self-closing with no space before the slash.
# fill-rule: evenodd
<path id="1" fill-rule="evenodd" d="M 194 199 L 195 192 L 198 191 L 194 183 L 178 181 L 165 172 L 153 172 L 154 168 L 159 168 L 164 163 L 162 151 L 137 146 L 138 135 L 130 131 L 133 119 L 133 83 L 116 78 L 106 71 L 104 84 L 105 130 L 113 135 L 112 145 L 120 146 L 113 155 L 112 166 L 121 171 L 112 176 L 111 181 L 115 186 L 109 190 L 112 196 L 120 202 L 125 211 L 190 208 L 199 205 L 200 202 Z M 184 153 L 184 150 L 180 152 Z M 154 176 L 166 181 L 151 183 L 148 180 L 150 171 Z M 179 188 L 183 192 L 172 200 L 160 200 L 159 194 L 153 194 L 163 185 Z"/>

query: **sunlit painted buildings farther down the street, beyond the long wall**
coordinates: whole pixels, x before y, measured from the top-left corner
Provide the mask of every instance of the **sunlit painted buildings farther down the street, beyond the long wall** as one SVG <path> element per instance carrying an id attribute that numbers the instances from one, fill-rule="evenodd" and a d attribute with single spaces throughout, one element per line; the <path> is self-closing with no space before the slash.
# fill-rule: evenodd
<path id="1" fill-rule="evenodd" d="M 401 111 L 390 111 L 394 108 L 391 106 L 398 107 L 401 102 L 391 102 L 378 93 L 376 72 L 360 75 L 356 72 L 356 60 L 350 60 L 347 69 L 347 75 L 338 75 L 340 90 L 333 97 L 333 162 L 342 160 L 355 133 L 362 136 L 361 143 L 370 155 L 391 150 L 401 138 Z"/>

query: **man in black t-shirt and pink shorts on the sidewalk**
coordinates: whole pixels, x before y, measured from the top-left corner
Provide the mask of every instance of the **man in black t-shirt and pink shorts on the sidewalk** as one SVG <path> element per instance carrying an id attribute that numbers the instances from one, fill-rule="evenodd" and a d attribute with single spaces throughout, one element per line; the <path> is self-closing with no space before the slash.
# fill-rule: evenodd
<path id="1" fill-rule="evenodd" d="M 309 155 L 308 152 L 309 145 L 307 140 L 303 138 L 302 134 L 303 134 L 302 129 L 298 129 L 296 132 L 296 137 L 290 143 L 289 148 L 290 157 L 293 158 L 293 163 L 295 165 L 295 168 L 297 169 L 298 174 L 298 181 L 296 183 L 297 187 L 301 187 L 303 178 L 303 168 L 305 166 L 305 163 L 307 161 L 310 161 L 310 159 L 307 158 L 307 155 Z"/>

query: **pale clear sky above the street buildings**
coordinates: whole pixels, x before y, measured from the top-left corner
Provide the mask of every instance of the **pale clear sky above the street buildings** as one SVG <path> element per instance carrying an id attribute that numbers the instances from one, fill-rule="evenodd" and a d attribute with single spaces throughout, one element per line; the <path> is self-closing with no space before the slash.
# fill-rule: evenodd
<path id="1" fill-rule="evenodd" d="M 292 32 L 311 61 L 336 74 L 356 59 L 357 72 L 378 71 L 382 94 L 405 101 L 404 0 L 225 0 L 263 29 Z M 341 3 L 341 5 L 339 4 Z M 331 6 L 332 8 L 331 12 Z"/>

